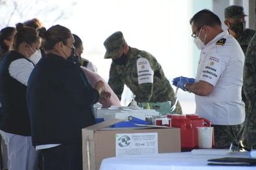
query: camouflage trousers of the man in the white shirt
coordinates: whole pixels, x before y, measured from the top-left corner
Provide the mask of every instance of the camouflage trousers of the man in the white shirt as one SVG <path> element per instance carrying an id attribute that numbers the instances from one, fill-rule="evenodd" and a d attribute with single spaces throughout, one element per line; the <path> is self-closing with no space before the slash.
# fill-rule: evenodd
<path id="1" fill-rule="evenodd" d="M 239 144 L 244 123 L 240 125 L 212 125 L 215 148 L 228 149 L 231 143 Z"/>

